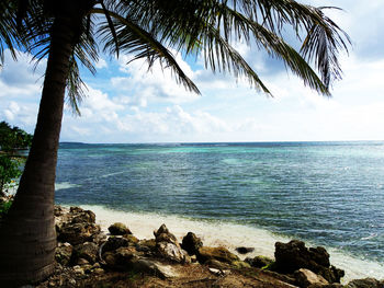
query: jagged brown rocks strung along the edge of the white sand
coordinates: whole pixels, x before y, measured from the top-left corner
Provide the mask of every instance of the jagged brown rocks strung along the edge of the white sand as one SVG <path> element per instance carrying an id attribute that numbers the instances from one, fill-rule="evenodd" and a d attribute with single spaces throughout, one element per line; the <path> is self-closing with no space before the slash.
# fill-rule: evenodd
<path id="1" fill-rule="evenodd" d="M 383 288 L 375 279 L 353 280 L 340 285 L 343 270 L 331 266 L 324 247 L 306 247 L 302 241 L 275 243 L 275 260 L 264 256 L 247 257 L 224 246 L 204 246 L 193 232 L 178 239 L 162 224 L 154 231 L 154 239 L 139 240 L 123 223 L 110 226 L 110 234 L 101 232 L 95 216 L 78 207 L 57 206 L 55 221 L 58 245 L 56 262 L 58 272 L 42 287 L 78 287 L 79 279 L 97 277 L 105 273 L 135 270 L 160 278 L 178 277 L 173 264 L 204 265 L 216 275 L 230 270 L 263 270 L 267 275 L 295 287 L 303 288 Z M 249 253 L 252 247 L 239 247 L 238 253 Z"/>

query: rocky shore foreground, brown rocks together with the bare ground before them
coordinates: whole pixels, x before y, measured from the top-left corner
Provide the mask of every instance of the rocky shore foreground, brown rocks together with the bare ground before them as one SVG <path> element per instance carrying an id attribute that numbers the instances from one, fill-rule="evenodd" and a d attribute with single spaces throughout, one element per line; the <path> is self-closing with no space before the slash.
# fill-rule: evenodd
<path id="1" fill-rule="evenodd" d="M 303 287 L 383 288 L 373 278 L 340 284 L 343 270 L 329 263 L 324 247 L 292 240 L 275 243 L 274 260 L 241 261 L 224 246 L 204 246 L 193 232 L 181 243 L 166 224 L 153 239 L 137 239 L 123 223 L 101 231 L 91 210 L 55 207 L 56 270 L 46 287 Z M 237 247 L 247 254 L 252 247 Z"/>

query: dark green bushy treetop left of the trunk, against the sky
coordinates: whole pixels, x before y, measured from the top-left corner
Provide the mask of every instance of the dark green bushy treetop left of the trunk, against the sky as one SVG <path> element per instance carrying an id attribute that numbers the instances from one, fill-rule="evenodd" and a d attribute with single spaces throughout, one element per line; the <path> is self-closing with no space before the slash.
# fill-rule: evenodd
<path id="1" fill-rule="evenodd" d="M 18 149 L 27 149 L 33 136 L 16 126 L 11 127 L 7 122 L 0 123 L 0 150 L 14 152 Z"/>

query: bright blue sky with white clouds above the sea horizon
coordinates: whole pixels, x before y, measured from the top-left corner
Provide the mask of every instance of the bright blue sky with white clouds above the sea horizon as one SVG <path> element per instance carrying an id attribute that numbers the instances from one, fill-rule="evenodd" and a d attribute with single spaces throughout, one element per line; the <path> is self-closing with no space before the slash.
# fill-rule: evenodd
<path id="1" fill-rule="evenodd" d="M 144 61 L 102 55 L 95 77 L 83 72 L 88 90 L 81 117 L 65 108 L 60 141 L 77 142 L 239 142 L 384 140 L 384 1 L 303 0 L 343 11 L 328 15 L 352 39 L 341 55 L 342 80 L 325 97 L 266 54 L 242 43 L 235 47 L 258 72 L 274 97 L 230 74 L 205 70 L 197 59 L 179 65 L 202 95 L 178 85 L 170 71 Z M 5 51 L 0 71 L 0 120 L 33 133 L 45 70 L 31 56 L 13 61 Z"/>

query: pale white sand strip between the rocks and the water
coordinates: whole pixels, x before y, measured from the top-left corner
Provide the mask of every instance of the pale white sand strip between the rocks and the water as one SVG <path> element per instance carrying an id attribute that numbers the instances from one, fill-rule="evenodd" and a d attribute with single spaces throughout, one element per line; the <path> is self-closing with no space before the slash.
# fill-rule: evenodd
<path id="1" fill-rule="evenodd" d="M 114 222 L 125 223 L 138 239 L 154 238 L 154 230 L 166 223 L 168 229 L 181 241 L 187 232 L 192 231 L 202 238 L 204 245 L 224 245 L 231 252 L 238 246 L 255 247 L 255 252 L 247 256 L 264 255 L 273 257 L 274 243 L 289 242 L 289 238 L 276 235 L 263 229 L 251 228 L 241 224 L 196 221 L 177 216 L 166 216 L 159 214 L 136 214 L 106 209 L 101 206 L 81 206 L 83 209 L 94 211 L 97 222 L 103 231 Z M 308 245 L 313 245 L 308 243 Z M 384 266 L 372 261 L 364 261 L 351 255 L 347 255 L 340 250 L 329 249 L 330 262 L 338 268 L 346 270 L 343 283 L 351 279 L 374 277 L 384 278 Z M 240 257 L 245 257 L 239 255 Z"/>

